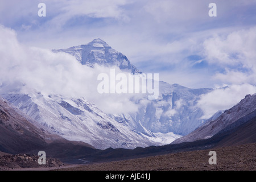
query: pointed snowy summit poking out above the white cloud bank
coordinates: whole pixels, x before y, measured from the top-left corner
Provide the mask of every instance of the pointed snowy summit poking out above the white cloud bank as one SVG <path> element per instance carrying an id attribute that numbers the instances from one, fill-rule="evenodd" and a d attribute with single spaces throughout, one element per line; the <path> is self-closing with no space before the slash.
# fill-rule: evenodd
<path id="1" fill-rule="evenodd" d="M 53 49 L 53 52 L 66 52 L 81 63 L 94 67 L 94 64 L 104 65 L 105 67 L 117 66 L 123 71 L 130 73 L 142 73 L 139 71 L 125 55 L 115 51 L 104 40 L 94 39 L 92 42 L 81 46 L 74 46 L 67 49 Z"/>

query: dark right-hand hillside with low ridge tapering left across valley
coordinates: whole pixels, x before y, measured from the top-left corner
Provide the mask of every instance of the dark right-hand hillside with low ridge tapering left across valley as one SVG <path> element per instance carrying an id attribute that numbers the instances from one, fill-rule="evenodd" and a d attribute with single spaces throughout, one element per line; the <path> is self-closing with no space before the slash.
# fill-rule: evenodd
<path id="1" fill-rule="evenodd" d="M 163 146 L 150 146 L 145 148 L 137 147 L 134 150 L 127 150 L 124 148 L 108 148 L 104 151 L 97 151 L 96 154 L 93 155 L 84 155 L 84 159 L 90 159 L 92 161 L 123 160 L 184 151 L 216 150 L 216 148 L 220 147 L 241 146 L 242 144 L 255 143 L 256 109 L 255 105 L 250 105 L 252 102 L 255 104 L 255 99 L 256 94 L 247 95 L 236 106 L 222 113 L 220 117 L 213 119 L 212 121 L 208 121 L 191 134 L 181 137 L 171 144 Z M 240 108 L 241 113 L 245 114 L 238 117 L 238 108 Z M 230 119 L 229 121 L 227 121 L 227 117 Z M 223 125 L 223 123 L 225 124 Z M 199 133 L 199 131 L 205 130 L 205 126 L 208 126 L 214 130 L 212 136 L 196 139 L 194 133 Z M 207 134 L 209 133 L 207 132 Z M 188 139 L 190 138 L 192 139 L 188 142 Z"/>

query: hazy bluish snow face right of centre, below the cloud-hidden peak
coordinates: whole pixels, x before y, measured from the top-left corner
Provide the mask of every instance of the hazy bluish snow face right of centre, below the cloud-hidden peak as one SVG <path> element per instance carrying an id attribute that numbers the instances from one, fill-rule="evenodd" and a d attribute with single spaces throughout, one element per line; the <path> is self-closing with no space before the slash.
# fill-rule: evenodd
<path id="1" fill-rule="evenodd" d="M 186 135 L 204 122 L 204 119 L 200 119 L 204 113 L 196 107 L 196 103 L 201 94 L 208 93 L 211 90 L 189 89 L 178 84 L 171 85 L 160 81 L 160 97 L 158 100 L 141 98 L 141 101 L 145 101 L 147 104 L 139 107 L 137 113 L 127 114 L 129 117 L 123 117 L 123 115 L 119 115 L 119 117 L 123 118 L 128 123 L 127 125 L 129 123 L 139 123 L 152 133 L 165 134 L 172 132 Z M 143 133 L 141 128 L 136 128 L 135 124 L 130 127 L 134 127 L 135 130 Z"/>

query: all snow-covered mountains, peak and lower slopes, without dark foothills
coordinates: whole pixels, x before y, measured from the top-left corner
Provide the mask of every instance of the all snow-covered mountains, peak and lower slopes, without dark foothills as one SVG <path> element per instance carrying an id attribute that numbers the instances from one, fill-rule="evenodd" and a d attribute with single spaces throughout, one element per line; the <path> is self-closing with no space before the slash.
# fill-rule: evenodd
<path id="1" fill-rule="evenodd" d="M 115 51 L 101 39 L 71 47 L 53 50 L 75 56 L 82 65 L 118 66 L 123 72 L 141 74 L 125 55 Z M 26 87 L 26 85 L 23 85 Z M 23 111 L 45 129 L 68 140 L 89 143 L 100 149 L 135 148 L 167 144 L 196 129 L 204 122 L 203 111 L 196 107 L 201 94 L 212 89 L 189 89 L 178 84 L 159 82 L 158 100 L 148 100 L 139 94 L 133 113 L 104 113 L 86 98 L 71 98 L 60 94 L 43 95 L 40 90 L 1 88 L 1 96 Z M 168 139 L 166 139 L 168 138 Z"/>

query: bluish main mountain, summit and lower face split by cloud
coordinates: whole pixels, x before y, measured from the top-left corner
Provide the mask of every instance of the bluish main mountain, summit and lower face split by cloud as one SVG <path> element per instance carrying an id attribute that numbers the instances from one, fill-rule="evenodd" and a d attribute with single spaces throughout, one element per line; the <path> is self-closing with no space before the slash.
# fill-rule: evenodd
<path id="1" fill-rule="evenodd" d="M 105 67 L 117 66 L 122 71 L 139 72 L 130 64 L 125 55 L 115 51 L 101 39 L 75 46 L 68 49 L 53 50 L 53 52 L 67 52 L 76 57 L 81 63 L 93 67 L 100 64 Z M 130 126 L 131 129 L 152 136 L 152 133 L 174 133 L 186 135 L 204 123 L 203 111 L 196 107 L 201 94 L 212 89 L 189 89 L 178 84 L 159 82 L 158 100 L 148 100 L 143 96 L 135 98 L 134 103 L 147 103 L 140 106 L 136 113 L 109 114 L 117 122 Z"/>

